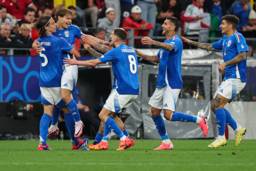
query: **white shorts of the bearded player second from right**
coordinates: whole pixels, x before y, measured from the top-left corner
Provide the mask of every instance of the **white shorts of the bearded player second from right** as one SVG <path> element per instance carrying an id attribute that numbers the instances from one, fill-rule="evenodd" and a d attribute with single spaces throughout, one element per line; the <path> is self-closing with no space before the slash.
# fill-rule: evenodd
<path id="1" fill-rule="evenodd" d="M 169 86 L 156 88 L 149 100 L 149 105 L 157 109 L 168 109 L 175 112 L 178 94 L 181 89 L 172 89 Z"/>

